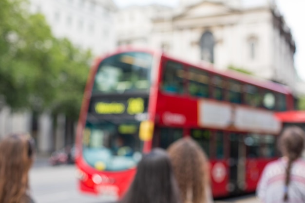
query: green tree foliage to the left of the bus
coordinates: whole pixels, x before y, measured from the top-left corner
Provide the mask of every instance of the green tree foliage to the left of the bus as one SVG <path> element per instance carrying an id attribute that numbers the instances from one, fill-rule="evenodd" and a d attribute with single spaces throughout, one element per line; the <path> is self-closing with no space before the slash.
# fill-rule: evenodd
<path id="1" fill-rule="evenodd" d="M 12 110 L 77 118 L 91 53 L 57 39 L 24 0 L 0 0 L 0 99 Z"/>

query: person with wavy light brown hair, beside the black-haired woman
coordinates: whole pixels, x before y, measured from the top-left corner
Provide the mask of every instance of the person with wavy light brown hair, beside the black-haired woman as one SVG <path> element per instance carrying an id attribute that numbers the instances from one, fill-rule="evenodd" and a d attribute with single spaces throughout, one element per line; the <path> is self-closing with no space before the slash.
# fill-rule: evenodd
<path id="1" fill-rule="evenodd" d="M 182 138 L 168 148 L 183 203 L 211 203 L 210 164 L 202 148 Z"/>

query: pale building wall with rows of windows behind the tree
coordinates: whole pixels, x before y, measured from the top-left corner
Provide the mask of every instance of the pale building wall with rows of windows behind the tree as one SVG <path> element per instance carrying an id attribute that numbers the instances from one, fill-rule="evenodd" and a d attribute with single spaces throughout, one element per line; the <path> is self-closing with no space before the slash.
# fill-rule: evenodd
<path id="1" fill-rule="evenodd" d="M 109 3 L 110 2 L 110 3 Z M 115 48 L 114 7 L 111 0 L 31 0 L 56 37 L 67 37 L 82 49 L 102 55 Z"/>

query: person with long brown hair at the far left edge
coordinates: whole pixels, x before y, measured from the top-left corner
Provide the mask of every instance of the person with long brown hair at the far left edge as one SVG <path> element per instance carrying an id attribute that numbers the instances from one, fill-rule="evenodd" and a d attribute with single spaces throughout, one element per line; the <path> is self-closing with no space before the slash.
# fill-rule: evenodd
<path id="1" fill-rule="evenodd" d="M 0 203 L 34 203 L 29 194 L 33 139 L 12 134 L 0 141 Z"/>

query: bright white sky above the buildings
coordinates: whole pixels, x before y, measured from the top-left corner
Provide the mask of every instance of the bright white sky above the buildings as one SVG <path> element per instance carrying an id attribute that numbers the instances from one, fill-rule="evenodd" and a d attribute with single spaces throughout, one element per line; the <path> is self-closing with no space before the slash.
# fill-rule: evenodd
<path id="1" fill-rule="evenodd" d="M 305 0 L 275 0 L 277 6 L 291 29 L 296 43 L 294 63 L 300 78 L 305 81 Z M 160 3 L 163 5 L 176 6 L 179 0 L 114 0 L 119 7 L 128 5 L 145 5 Z M 304 24 L 303 24 L 304 23 Z M 302 57 L 303 56 L 303 57 Z"/>

